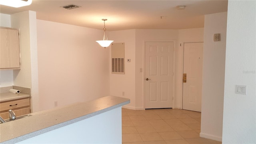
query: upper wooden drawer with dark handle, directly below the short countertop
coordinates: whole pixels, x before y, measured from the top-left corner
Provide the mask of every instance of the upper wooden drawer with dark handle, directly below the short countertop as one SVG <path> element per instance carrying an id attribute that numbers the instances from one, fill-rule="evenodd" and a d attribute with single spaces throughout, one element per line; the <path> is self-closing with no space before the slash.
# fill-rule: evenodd
<path id="1" fill-rule="evenodd" d="M 22 99 L 22 100 L 14 100 L 11 102 L 3 102 L 0 104 L 0 110 L 10 110 L 15 108 L 21 108 L 23 106 L 30 106 L 30 100 L 29 98 Z"/>

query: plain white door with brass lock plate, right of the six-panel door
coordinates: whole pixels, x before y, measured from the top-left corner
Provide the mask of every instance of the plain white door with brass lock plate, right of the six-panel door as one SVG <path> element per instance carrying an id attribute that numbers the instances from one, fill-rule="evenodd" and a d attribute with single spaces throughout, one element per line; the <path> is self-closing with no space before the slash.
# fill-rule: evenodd
<path id="1" fill-rule="evenodd" d="M 203 42 L 184 43 L 183 109 L 201 112 Z"/>

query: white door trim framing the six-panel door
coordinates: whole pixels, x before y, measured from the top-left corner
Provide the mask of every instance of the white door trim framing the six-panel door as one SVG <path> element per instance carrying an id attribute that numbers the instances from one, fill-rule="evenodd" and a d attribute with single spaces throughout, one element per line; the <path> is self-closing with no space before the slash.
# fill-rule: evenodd
<path id="1" fill-rule="evenodd" d="M 143 84 L 143 91 L 142 91 L 142 95 L 143 95 L 143 108 L 145 110 L 145 58 L 146 58 L 146 42 L 173 42 L 173 47 L 174 47 L 174 52 L 173 52 L 173 85 L 172 85 L 172 108 L 175 107 L 175 64 L 176 64 L 176 60 L 175 60 L 175 51 L 176 51 L 176 40 L 143 40 L 143 72 L 142 72 L 142 84 Z M 183 95 L 183 94 L 182 94 Z"/>

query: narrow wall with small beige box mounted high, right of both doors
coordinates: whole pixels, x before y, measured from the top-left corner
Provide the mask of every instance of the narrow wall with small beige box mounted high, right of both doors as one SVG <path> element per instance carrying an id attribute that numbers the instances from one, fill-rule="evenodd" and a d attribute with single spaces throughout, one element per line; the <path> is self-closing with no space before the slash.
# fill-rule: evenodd
<path id="1" fill-rule="evenodd" d="M 227 12 L 205 15 L 201 132 L 203 138 L 222 140 Z M 220 34 L 214 42 L 213 35 Z"/>

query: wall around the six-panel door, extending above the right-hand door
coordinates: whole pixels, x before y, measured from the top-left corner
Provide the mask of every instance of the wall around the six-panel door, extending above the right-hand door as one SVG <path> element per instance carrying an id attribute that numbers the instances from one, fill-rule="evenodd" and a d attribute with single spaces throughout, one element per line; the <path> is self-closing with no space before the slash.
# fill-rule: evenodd
<path id="1" fill-rule="evenodd" d="M 184 30 L 136 30 L 136 109 L 144 109 L 144 42 L 146 41 L 172 41 L 175 42 L 175 84 L 173 108 L 181 107 L 182 99 L 182 73 L 183 73 L 183 42 L 202 42 L 204 28 Z M 180 46 L 182 44 L 182 46 Z M 143 72 L 140 72 L 140 68 Z"/>

